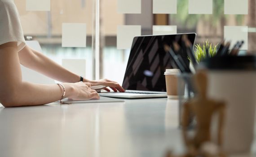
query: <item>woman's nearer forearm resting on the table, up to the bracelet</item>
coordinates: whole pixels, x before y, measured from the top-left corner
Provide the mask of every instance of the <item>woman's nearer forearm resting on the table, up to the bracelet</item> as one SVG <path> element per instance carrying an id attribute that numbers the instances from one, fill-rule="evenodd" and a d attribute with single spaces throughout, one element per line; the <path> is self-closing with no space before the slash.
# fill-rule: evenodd
<path id="1" fill-rule="evenodd" d="M 70 83 L 64 83 L 66 97 L 71 97 L 73 87 Z M 63 88 L 57 84 L 43 85 L 22 82 L 2 97 L 1 103 L 5 107 L 44 105 L 60 100 L 63 95 Z"/>

